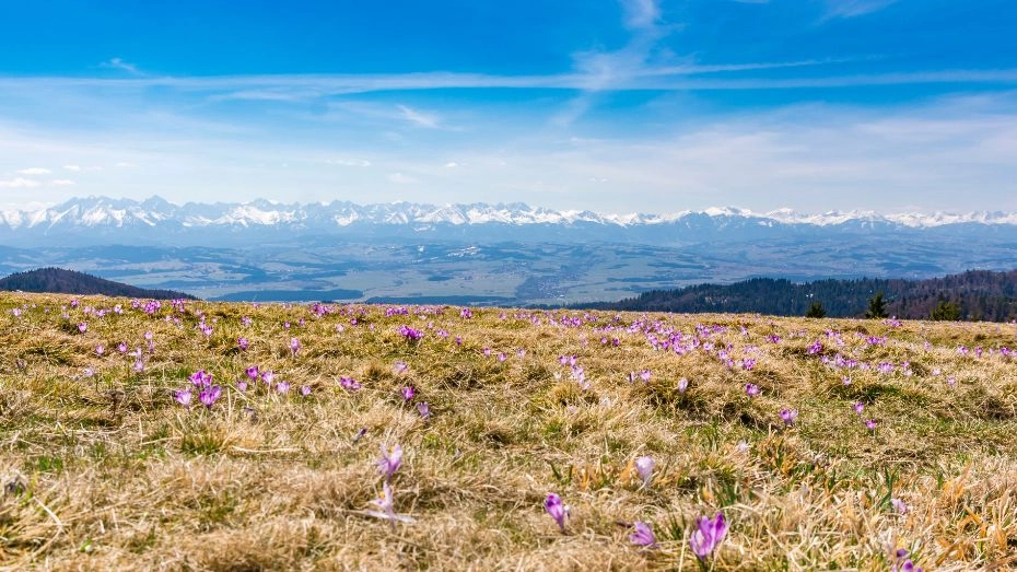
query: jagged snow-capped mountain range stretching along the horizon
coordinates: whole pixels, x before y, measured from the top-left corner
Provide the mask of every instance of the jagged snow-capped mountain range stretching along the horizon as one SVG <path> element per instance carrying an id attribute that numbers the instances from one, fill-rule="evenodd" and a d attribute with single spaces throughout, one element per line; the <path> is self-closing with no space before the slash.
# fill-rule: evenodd
<path id="1" fill-rule="evenodd" d="M 600 225 L 617 229 L 678 225 L 701 226 L 710 221 L 714 226 L 750 223 L 760 226 L 897 226 L 931 229 L 956 224 L 1017 225 L 1017 213 L 898 213 L 874 211 L 830 211 L 804 214 L 791 209 L 753 212 L 738 208 L 711 208 L 703 211 L 681 211 L 670 214 L 603 214 L 588 210 L 551 210 L 524 203 L 421 205 L 394 202 L 356 205 L 348 201 L 330 203 L 281 203 L 255 200 L 243 203 L 173 205 L 159 197 L 143 201 L 87 197 L 34 210 L 0 210 L 0 231 L 56 232 L 71 229 L 151 227 L 184 229 L 252 229 L 274 227 L 329 231 L 351 226 L 411 226 L 417 231 L 435 226 L 461 225 Z M 740 226 L 741 224 L 735 224 Z"/>

